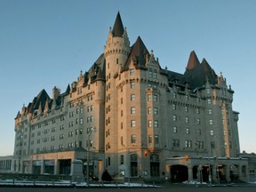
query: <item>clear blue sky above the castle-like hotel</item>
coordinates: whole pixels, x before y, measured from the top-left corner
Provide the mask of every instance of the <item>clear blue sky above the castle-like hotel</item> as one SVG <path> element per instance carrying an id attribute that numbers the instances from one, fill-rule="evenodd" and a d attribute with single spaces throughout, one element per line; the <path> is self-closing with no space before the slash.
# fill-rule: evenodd
<path id="1" fill-rule="evenodd" d="M 256 1 L 0 0 L 0 156 L 12 156 L 14 118 L 45 89 L 64 92 L 104 52 L 120 12 L 162 68 L 183 74 L 191 51 L 235 91 L 241 152 L 256 152 Z"/>

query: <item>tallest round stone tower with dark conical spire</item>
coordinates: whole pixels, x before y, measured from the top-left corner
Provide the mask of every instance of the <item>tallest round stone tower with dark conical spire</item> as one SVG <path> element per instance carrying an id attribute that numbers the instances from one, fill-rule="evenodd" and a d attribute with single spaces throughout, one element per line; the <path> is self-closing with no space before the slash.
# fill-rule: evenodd
<path id="1" fill-rule="evenodd" d="M 107 167 L 110 166 L 112 173 L 117 172 L 114 168 L 116 166 L 113 166 L 114 164 L 117 164 L 117 156 L 115 155 L 118 133 L 116 77 L 124 67 L 129 53 L 129 38 L 127 36 L 126 28 L 123 26 L 120 13 L 118 12 L 114 27 L 109 30 L 108 40 L 104 50 L 106 60 L 105 150 L 106 165 Z"/>

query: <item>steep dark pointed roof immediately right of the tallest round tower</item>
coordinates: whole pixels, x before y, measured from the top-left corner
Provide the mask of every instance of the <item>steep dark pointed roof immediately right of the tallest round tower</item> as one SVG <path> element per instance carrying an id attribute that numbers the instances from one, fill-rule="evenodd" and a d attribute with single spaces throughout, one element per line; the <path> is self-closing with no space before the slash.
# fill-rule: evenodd
<path id="1" fill-rule="evenodd" d="M 132 60 L 135 62 L 136 68 L 145 67 L 147 55 L 149 55 L 148 49 L 142 42 L 140 36 L 138 36 L 136 42 L 132 45 L 132 52 L 126 61 L 124 68 L 129 68 Z"/>

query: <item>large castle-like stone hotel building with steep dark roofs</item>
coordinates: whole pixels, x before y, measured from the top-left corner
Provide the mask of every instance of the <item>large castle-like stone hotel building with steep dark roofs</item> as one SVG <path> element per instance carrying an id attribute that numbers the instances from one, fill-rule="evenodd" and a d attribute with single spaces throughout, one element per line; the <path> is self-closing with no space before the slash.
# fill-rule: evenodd
<path id="1" fill-rule="evenodd" d="M 184 74 L 161 68 L 140 36 L 130 45 L 118 13 L 92 68 L 65 92 L 54 87 L 52 98 L 43 90 L 16 116 L 14 171 L 44 173 L 51 160 L 60 174 L 75 159 L 87 164 L 88 151 L 94 175 L 164 178 L 168 158 L 236 157 L 233 93 L 194 51 Z"/>

